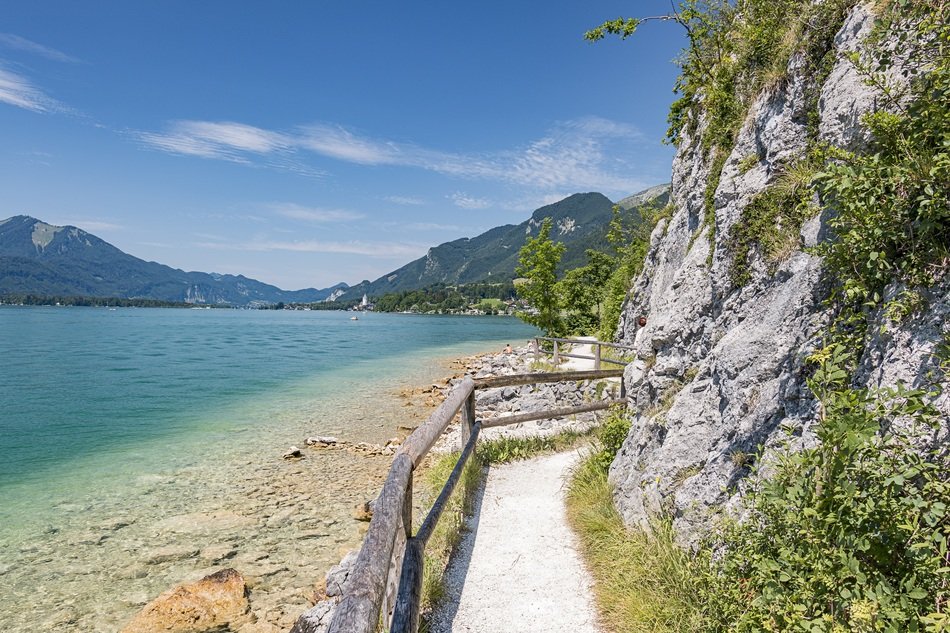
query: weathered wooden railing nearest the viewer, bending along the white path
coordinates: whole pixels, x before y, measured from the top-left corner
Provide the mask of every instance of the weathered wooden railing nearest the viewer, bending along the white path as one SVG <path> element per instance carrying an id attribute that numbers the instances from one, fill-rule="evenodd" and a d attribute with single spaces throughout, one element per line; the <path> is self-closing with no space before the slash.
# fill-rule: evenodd
<path id="1" fill-rule="evenodd" d="M 574 413 L 599 411 L 624 403 L 610 398 L 575 407 L 563 407 L 485 420 L 475 418 L 475 391 L 561 381 L 598 380 L 623 375 L 623 369 L 521 374 L 474 380 L 466 376 L 432 415 L 406 438 L 393 459 L 383 490 L 376 500 L 373 518 L 363 540 L 353 571 L 337 605 L 330 633 L 374 633 L 387 628 L 390 633 L 416 633 L 422 597 L 423 552 L 435 530 L 465 464 L 475 450 L 482 428 L 504 426 L 529 420 L 544 420 Z M 438 498 L 412 534 L 412 473 L 432 445 L 461 411 L 462 452 Z M 398 583 L 396 580 L 398 579 Z M 390 619 L 390 614 L 391 619 Z"/>

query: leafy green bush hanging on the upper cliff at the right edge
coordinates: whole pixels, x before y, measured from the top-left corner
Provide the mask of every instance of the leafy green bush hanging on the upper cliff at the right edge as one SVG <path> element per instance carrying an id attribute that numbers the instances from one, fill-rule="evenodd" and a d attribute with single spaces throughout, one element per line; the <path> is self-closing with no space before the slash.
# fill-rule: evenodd
<path id="1" fill-rule="evenodd" d="M 943 9 L 943 18 L 950 17 Z M 950 47 L 944 23 L 938 40 Z M 836 239 L 821 253 L 841 282 L 847 304 L 879 303 L 892 280 L 929 285 L 950 258 L 950 55 L 915 85 L 899 114 L 865 117 L 874 134 L 867 154 L 846 154 L 818 175 L 838 211 Z"/>

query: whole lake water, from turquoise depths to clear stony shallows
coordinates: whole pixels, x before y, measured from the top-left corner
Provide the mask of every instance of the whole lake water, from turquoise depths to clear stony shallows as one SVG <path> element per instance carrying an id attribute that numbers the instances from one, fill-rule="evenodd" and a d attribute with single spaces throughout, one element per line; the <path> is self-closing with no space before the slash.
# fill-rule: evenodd
<path id="1" fill-rule="evenodd" d="M 437 359 L 534 335 L 510 318 L 350 316 L 0 307 L 0 594 L 48 598 L 20 613 L 65 600 L 49 630 L 115 630 L 178 576 L 203 571 L 136 567 L 150 547 L 220 545 L 213 521 L 184 535 L 163 523 L 195 512 L 257 522 L 226 535 L 238 559 L 256 547 L 271 561 L 332 562 L 358 530 L 343 522 L 319 553 L 308 541 L 280 554 L 297 528 L 272 520 L 267 482 L 292 491 L 294 477 L 319 478 L 294 507 L 317 504 L 311 518 L 329 523 L 368 494 L 385 460 L 330 455 L 290 469 L 280 453 L 308 435 L 384 441 L 406 415 L 392 392 L 447 373 Z M 264 544 L 241 540 L 271 528 Z M 285 575 L 275 587 L 293 584 Z M 0 611 L 3 630 L 30 621 Z"/>

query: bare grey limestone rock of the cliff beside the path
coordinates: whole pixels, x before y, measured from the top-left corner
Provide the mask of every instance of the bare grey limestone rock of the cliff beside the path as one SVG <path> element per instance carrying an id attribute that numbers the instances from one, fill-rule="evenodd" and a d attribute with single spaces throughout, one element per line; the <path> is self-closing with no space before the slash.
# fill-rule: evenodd
<path id="1" fill-rule="evenodd" d="M 855 50 L 871 22 L 856 7 L 835 39 L 837 51 Z M 821 259 L 792 249 L 769 271 L 756 256 L 751 281 L 739 289 L 729 274 L 729 233 L 742 210 L 805 151 L 811 78 L 802 66 L 792 58 L 789 79 L 752 105 L 715 191 L 714 231 L 702 226 L 713 157 L 697 138 L 681 141 L 673 163 L 675 211 L 655 228 L 621 316 L 620 338 L 635 345 L 641 360 L 625 374 L 636 417 L 610 472 L 615 502 L 631 525 L 671 516 L 684 543 L 695 542 L 710 515 L 737 499 L 750 474 L 749 456 L 759 447 L 768 453 L 786 442 L 794 448 L 814 441 L 817 403 L 804 365 L 830 323 Z M 860 147 L 867 140 L 860 117 L 874 103 L 874 89 L 839 56 L 820 87 L 820 139 Z M 743 169 L 750 156 L 757 163 Z M 828 216 L 825 211 L 805 224 L 799 248 L 826 238 Z M 948 288 L 932 289 L 925 313 L 897 329 L 883 318 L 872 325 L 861 384 L 920 385 L 936 368 L 934 352 L 950 328 Z M 936 404 L 950 417 L 947 396 Z M 945 439 L 946 425 L 941 433 Z"/>

